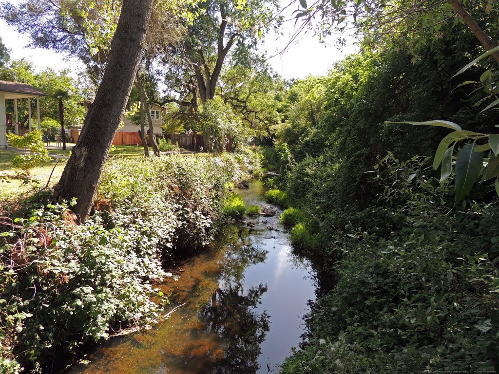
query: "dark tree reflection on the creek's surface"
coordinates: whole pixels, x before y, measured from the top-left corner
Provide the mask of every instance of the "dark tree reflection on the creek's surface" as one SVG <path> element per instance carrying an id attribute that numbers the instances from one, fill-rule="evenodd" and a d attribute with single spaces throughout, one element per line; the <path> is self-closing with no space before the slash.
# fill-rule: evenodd
<path id="1" fill-rule="evenodd" d="M 229 227 L 225 234 L 221 286 L 200 317 L 219 337 L 224 354 L 206 373 L 254 374 L 259 368 L 260 344 L 269 330 L 269 316 L 256 311 L 267 287 L 260 284 L 245 290 L 243 280 L 245 269 L 265 261 L 267 251 L 253 245 L 247 229 Z"/>

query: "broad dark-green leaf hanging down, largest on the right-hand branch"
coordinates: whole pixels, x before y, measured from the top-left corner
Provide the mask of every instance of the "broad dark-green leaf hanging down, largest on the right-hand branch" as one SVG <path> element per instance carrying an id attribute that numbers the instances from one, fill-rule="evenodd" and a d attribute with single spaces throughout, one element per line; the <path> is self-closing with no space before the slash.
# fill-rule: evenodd
<path id="1" fill-rule="evenodd" d="M 458 204 L 477 182 L 484 160 L 483 152 L 474 152 L 475 144 L 465 145 L 456 160 L 456 196 L 454 206 Z"/>

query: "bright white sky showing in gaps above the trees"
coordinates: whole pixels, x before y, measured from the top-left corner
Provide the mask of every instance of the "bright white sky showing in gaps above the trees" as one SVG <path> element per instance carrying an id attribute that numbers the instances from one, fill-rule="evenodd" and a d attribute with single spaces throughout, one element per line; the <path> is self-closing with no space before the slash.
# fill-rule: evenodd
<path id="1" fill-rule="evenodd" d="M 11 2 L 16 3 L 18 0 L 11 0 Z M 290 12 L 291 10 L 288 14 Z M 281 51 L 290 39 L 290 34 L 294 29 L 293 25 L 293 21 L 284 23 L 281 28 L 284 35 L 264 35 L 265 42 L 261 44 L 260 50 L 262 52 L 267 51 L 268 56 Z M 0 20 L 0 37 L 5 46 L 10 49 L 12 59 L 25 57 L 33 61 L 37 71 L 46 67 L 55 70 L 70 68 L 76 75 L 78 66 L 82 67 L 82 64 L 75 58 L 67 60 L 64 58 L 65 56 L 51 50 L 28 48 L 29 39 L 27 35 L 18 34 L 3 20 Z M 307 75 L 325 75 L 332 68 L 335 61 L 355 52 L 354 45 L 338 50 L 334 42 L 334 36 L 331 36 L 326 43 L 320 43 L 317 36 L 303 34 L 282 55 L 270 58 L 268 63 L 286 79 L 304 78 Z"/>

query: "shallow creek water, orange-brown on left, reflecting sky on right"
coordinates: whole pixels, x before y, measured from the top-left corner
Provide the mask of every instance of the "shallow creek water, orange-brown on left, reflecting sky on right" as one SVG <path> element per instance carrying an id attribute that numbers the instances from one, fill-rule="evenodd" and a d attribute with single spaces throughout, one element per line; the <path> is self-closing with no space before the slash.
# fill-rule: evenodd
<path id="1" fill-rule="evenodd" d="M 236 192 L 266 205 L 259 182 Z M 294 254 L 279 214 L 251 219 L 252 229 L 228 225 L 209 250 L 181 265 L 178 280 L 160 286 L 170 299 L 166 312 L 182 305 L 166 321 L 111 339 L 70 373 L 278 373 L 301 341 L 316 289 L 311 263 Z"/>

